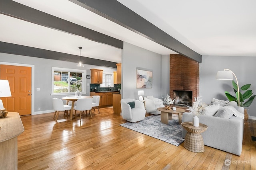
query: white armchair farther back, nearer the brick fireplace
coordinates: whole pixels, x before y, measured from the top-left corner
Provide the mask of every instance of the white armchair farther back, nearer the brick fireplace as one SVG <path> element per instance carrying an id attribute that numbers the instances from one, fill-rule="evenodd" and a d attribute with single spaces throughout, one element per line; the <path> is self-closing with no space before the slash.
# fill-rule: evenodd
<path id="1" fill-rule="evenodd" d="M 161 111 L 159 111 L 157 108 L 164 107 L 162 99 L 154 98 L 151 96 L 151 98 L 144 97 L 145 100 L 145 107 L 147 113 L 154 114 L 154 115 L 160 115 Z"/>

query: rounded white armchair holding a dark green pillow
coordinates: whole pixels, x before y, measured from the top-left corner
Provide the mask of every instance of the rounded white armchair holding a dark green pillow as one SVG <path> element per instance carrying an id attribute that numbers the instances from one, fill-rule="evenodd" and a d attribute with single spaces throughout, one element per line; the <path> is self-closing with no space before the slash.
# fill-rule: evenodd
<path id="1" fill-rule="evenodd" d="M 130 102 L 132 102 L 132 106 L 134 104 L 134 108 L 128 104 Z M 146 115 L 144 104 L 134 99 L 121 99 L 121 109 L 123 119 L 126 119 L 126 121 L 130 122 L 141 121 L 145 118 Z"/>

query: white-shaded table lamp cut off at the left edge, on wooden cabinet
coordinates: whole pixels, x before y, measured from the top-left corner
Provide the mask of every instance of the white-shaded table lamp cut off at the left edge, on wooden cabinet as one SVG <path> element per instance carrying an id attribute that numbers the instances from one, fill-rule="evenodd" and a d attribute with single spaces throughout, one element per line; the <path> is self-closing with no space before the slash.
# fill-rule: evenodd
<path id="1" fill-rule="evenodd" d="M 8 80 L 0 80 L 0 98 L 2 97 L 10 97 L 12 96 L 11 90 L 10 90 L 10 85 Z M 6 117 L 7 111 L 4 109 L 4 105 L 2 100 L 0 100 L 0 117 Z M 5 114 L 3 114 L 5 113 Z"/>

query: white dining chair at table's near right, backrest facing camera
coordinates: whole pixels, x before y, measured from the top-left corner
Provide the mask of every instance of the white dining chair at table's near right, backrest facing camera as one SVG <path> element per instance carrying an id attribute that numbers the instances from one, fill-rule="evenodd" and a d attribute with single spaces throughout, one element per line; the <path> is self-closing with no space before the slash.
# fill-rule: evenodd
<path id="1" fill-rule="evenodd" d="M 82 117 L 82 111 L 88 111 L 91 115 L 92 118 L 92 98 L 85 98 L 85 99 L 78 99 L 76 101 L 76 106 L 74 107 L 75 110 L 75 117 L 76 117 L 76 111 L 79 110 L 80 111 L 80 121 L 81 121 L 81 117 Z"/>

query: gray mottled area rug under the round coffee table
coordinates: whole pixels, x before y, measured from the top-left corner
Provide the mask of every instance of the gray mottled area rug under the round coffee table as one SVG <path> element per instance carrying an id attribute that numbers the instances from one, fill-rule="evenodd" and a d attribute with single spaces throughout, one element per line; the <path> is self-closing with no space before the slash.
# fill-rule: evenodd
<path id="1" fill-rule="evenodd" d="M 168 125 L 162 123 L 160 119 L 160 115 L 151 115 L 138 123 L 127 122 L 121 126 L 179 146 L 184 139 L 182 138 L 182 125 L 178 123 L 178 115 L 172 115 L 172 120 L 169 120 Z"/>

